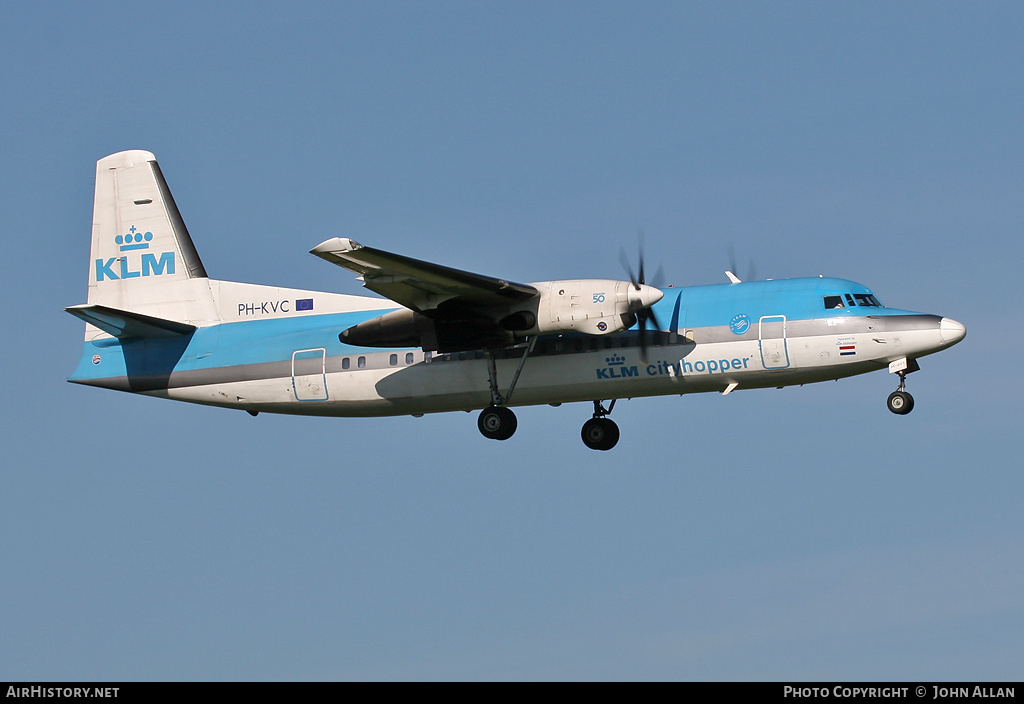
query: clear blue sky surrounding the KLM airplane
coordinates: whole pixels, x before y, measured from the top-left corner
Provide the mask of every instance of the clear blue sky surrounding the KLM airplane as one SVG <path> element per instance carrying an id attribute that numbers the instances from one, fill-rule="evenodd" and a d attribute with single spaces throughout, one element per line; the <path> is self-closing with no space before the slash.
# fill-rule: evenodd
<path id="1" fill-rule="evenodd" d="M 1024 8 L 10 3 L 0 678 L 1019 679 Z M 210 274 L 330 236 L 512 280 L 837 275 L 953 317 L 886 373 L 315 420 L 70 385 L 97 159 Z"/>

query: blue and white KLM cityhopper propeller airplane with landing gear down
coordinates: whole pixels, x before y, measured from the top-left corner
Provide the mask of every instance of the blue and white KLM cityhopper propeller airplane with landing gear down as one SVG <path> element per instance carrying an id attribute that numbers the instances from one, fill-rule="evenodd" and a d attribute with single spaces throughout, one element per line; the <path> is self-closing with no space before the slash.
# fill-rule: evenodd
<path id="1" fill-rule="evenodd" d="M 513 406 L 593 403 L 584 444 L 611 449 L 615 400 L 906 376 L 964 339 L 948 317 L 884 307 L 842 278 L 657 288 L 517 283 L 333 237 L 311 253 L 384 298 L 210 278 L 153 153 L 96 164 L 85 321 L 68 381 L 259 412 L 330 416 L 479 410 L 490 439 Z M 605 402 L 608 405 L 605 406 Z"/>

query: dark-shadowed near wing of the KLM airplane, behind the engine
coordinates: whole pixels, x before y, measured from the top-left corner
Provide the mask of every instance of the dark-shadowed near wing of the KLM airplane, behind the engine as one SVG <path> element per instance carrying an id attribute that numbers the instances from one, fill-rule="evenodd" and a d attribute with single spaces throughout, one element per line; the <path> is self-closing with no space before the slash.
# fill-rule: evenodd
<path id="1" fill-rule="evenodd" d="M 354 239 L 334 237 L 310 254 L 343 266 L 362 277 L 362 285 L 417 312 L 445 307 L 505 308 L 528 301 L 539 292 L 526 283 L 453 269 L 364 247 Z"/>

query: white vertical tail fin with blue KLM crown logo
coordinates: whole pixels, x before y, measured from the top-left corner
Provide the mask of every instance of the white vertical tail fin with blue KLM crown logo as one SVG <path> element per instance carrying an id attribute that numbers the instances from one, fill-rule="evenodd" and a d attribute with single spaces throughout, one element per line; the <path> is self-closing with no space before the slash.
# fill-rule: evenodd
<path id="1" fill-rule="evenodd" d="M 96 163 L 88 302 L 174 320 L 216 316 L 206 269 L 148 151 Z"/>

